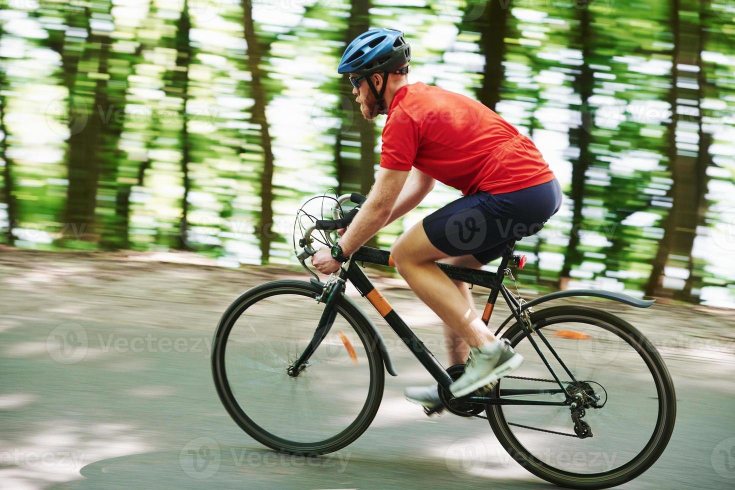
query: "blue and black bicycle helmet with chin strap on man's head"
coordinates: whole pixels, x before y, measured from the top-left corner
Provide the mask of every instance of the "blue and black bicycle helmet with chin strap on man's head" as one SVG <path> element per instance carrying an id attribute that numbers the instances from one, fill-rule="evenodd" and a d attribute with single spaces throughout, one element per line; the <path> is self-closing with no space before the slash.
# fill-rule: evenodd
<path id="1" fill-rule="evenodd" d="M 411 61 L 411 46 L 404 40 L 404 33 L 395 29 L 370 29 L 348 44 L 342 55 L 337 73 L 357 73 L 365 76 L 377 101 L 379 114 L 387 114 L 385 89 L 390 73 L 408 73 L 402 68 Z M 376 90 L 370 73 L 383 72 L 380 93 Z"/>

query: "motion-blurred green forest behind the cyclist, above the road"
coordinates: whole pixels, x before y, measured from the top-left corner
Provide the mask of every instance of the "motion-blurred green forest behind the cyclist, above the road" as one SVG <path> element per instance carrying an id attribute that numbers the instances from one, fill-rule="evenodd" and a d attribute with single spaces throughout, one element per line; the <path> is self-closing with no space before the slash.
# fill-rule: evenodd
<path id="1" fill-rule="evenodd" d="M 406 32 L 412 82 L 477 98 L 564 187 L 526 287 L 735 306 L 728 0 L 3 0 L 0 242 L 296 264 L 307 197 L 367 193 L 380 132 L 335 69 Z M 459 192 L 437 186 L 380 232 Z"/>

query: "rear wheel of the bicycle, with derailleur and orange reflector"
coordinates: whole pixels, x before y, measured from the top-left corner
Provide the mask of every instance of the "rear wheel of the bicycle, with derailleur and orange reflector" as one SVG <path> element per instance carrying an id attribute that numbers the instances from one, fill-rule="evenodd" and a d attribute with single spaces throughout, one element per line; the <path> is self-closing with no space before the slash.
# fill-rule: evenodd
<path id="1" fill-rule="evenodd" d="M 554 306 L 530 319 L 534 340 L 570 397 L 517 322 L 503 338 L 526 360 L 495 385 L 494 396 L 576 400 L 578 408 L 489 405 L 495 436 L 521 466 L 559 486 L 605 489 L 636 478 L 663 453 L 676 417 L 674 386 L 656 347 L 625 320 L 598 309 Z M 535 390 L 530 397 L 529 390 Z"/>

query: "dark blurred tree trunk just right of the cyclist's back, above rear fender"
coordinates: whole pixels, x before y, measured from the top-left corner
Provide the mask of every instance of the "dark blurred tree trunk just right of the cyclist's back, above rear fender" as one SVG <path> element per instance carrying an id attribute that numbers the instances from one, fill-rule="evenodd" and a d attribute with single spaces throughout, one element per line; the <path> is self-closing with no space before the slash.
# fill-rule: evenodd
<path id="1" fill-rule="evenodd" d="M 595 85 L 594 73 L 589 66 L 589 60 L 592 58 L 592 48 L 590 47 L 590 40 L 593 36 L 592 29 L 590 28 L 592 19 L 589 13 L 589 7 L 581 8 L 579 14 L 579 35 L 577 37 L 577 43 L 581 46 L 582 64 L 579 67 L 579 73 L 575 77 L 573 86 L 581 99 L 579 107 L 581 124 L 576 128 L 571 128 L 569 131 L 569 144 L 570 146 L 579 148 L 579 155 L 571 159 L 572 189 L 570 197 L 572 198 L 573 215 L 569 244 L 567 245 L 566 253 L 564 253 L 564 265 L 559 273 L 559 286 L 562 289 L 566 286 L 573 267 L 576 264 L 580 264 L 584 256 L 578 250 L 579 234 L 584 218 L 582 209 L 584 206 L 585 174 L 589 165 L 592 164 L 593 159 L 592 151 L 589 148 L 590 143 L 592 143 L 592 129 L 594 125 L 593 114 L 589 109 L 589 98 L 592 97 L 592 88 Z"/>

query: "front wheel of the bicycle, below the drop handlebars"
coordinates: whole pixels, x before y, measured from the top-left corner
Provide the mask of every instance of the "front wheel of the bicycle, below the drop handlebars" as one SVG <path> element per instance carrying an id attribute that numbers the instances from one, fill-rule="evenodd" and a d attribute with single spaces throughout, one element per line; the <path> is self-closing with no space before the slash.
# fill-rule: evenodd
<path id="1" fill-rule="evenodd" d="M 223 314 L 212 342 L 212 373 L 232 419 L 279 451 L 339 450 L 370 425 L 383 396 L 384 368 L 365 314 L 337 300 L 337 317 L 306 367 L 294 361 L 324 310 L 322 290 L 273 281 L 245 292 Z"/>

